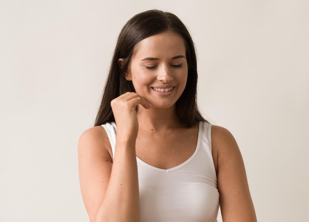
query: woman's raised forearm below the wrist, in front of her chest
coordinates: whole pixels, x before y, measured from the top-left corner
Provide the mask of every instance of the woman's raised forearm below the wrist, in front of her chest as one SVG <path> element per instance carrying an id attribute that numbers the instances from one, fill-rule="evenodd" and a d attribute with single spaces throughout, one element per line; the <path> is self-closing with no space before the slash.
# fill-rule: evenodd
<path id="1" fill-rule="evenodd" d="M 138 222 L 139 188 L 135 144 L 116 142 L 109 185 L 96 222 Z"/>

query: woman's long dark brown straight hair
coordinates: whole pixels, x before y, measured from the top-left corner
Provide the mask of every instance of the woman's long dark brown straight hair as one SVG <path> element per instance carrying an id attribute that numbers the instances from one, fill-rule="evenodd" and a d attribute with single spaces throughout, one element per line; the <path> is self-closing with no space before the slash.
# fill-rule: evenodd
<path id="1" fill-rule="evenodd" d="M 144 38 L 166 31 L 180 35 L 186 44 L 188 79 L 183 94 L 176 102 L 178 117 L 188 127 L 199 121 L 206 121 L 198 111 L 196 104 L 196 55 L 189 31 L 176 15 L 170 12 L 149 10 L 133 16 L 119 34 L 95 126 L 115 121 L 111 101 L 125 92 L 135 92 L 132 82 L 125 79 L 125 73 L 136 44 Z M 121 67 L 118 65 L 120 58 L 123 60 Z"/>

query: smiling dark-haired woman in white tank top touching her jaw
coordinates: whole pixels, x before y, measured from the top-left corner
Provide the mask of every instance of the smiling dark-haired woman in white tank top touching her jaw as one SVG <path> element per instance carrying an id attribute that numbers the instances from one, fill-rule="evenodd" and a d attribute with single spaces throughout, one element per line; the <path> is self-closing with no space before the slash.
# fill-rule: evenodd
<path id="1" fill-rule="evenodd" d="M 174 14 L 123 27 L 95 126 L 78 143 L 90 221 L 256 222 L 231 133 L 196 106 L 192 38 Z"/>

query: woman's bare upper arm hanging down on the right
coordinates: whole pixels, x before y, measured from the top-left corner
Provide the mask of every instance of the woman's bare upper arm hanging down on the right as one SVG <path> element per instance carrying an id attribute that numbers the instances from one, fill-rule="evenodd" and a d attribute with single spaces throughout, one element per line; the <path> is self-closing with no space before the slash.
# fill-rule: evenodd
<path id="1" fill-rule="evenodd" d="M 212 126 L 212 147 L 224 222 L 256 222 L 238 145 L 225 128 Z"/>

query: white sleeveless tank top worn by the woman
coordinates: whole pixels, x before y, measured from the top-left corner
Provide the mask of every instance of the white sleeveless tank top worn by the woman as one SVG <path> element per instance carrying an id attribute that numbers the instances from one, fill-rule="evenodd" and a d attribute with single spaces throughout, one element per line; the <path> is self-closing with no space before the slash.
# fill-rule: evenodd
<path id="1" fill-rule="evenodd" d="M 114 155 L 116 124 L 102 126 Z M 141 222 L 217 222 L 219 192 L 211 153 L 211 124 L 199 123 L 193 155 L 176 167 L 159 169 L 136 159 Z"/>

